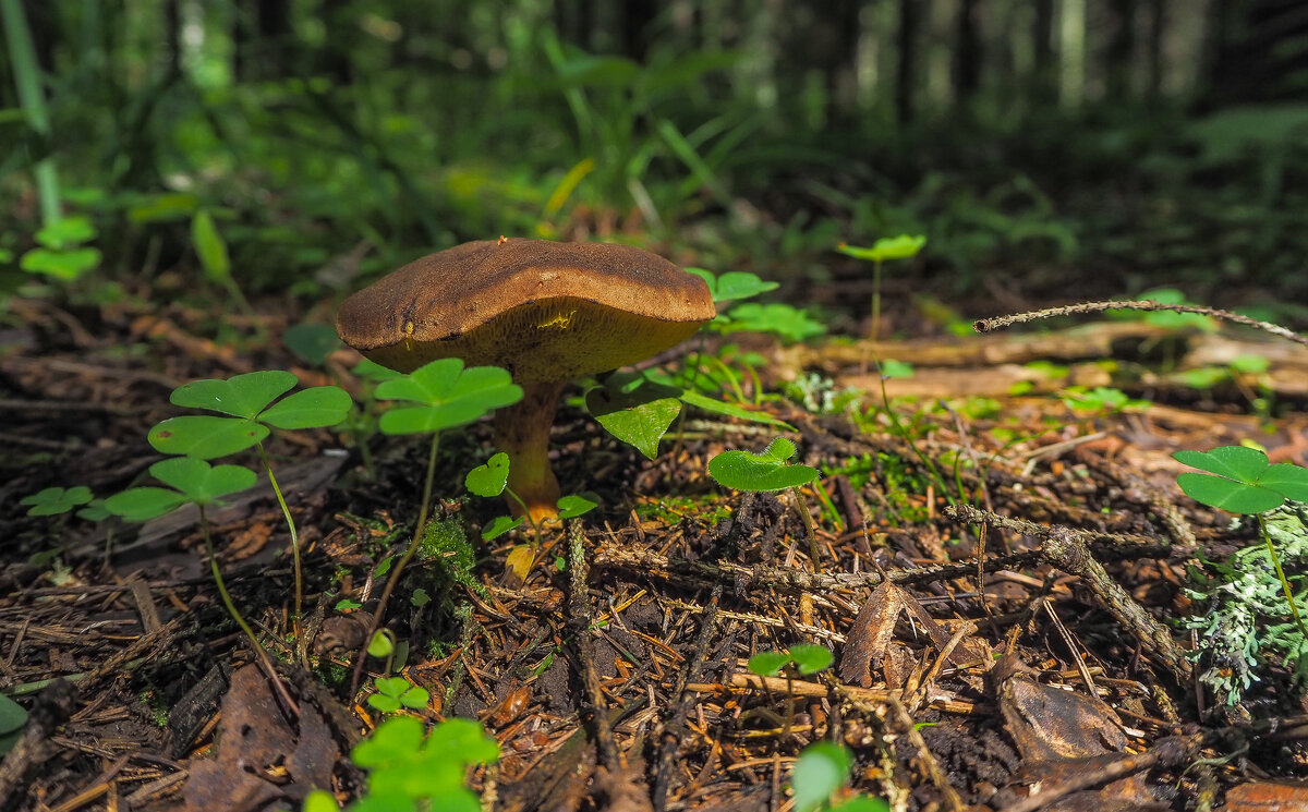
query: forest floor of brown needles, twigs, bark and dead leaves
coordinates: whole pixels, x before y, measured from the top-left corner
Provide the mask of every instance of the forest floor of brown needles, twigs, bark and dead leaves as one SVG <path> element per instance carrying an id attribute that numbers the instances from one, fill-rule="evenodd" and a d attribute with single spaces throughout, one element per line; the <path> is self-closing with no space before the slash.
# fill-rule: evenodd
<path id="1" fill-rule="evenodd" d="M 298 809 L 311 787 L 351 796 L 362 777 L 343 753 L 381 714 L 366 692 L 344 696 L 349 668 L 375 607 L 374 566 L 417 515 L 424 443 L 371 438 L 370 477 L 330 431 L 271 442 L 305 549 L 310 669 L 294 664 L 272 492 L 209 516 L 290 709 L 217 599 L 194 514 L 126 526 L 29 518 L 17 502 L 52 485 L 135 484 L 161 459 L 146 431 L 177 413 L 169 392 L 188 381 L 332 375 L 277 343 L 215 343 L 212 314 L 181 306 L 24 307 L 25 324 L 0 337 L 0 686 L 31 719 L 0 766 L 4 808 L 245 812 Z M 254 328 L 285 324 L 243 326 Z M 1074 412 L 1042 383 L 1008 394 L 1028 361 L 1067 366 L 1045 391 L 1112 383 L 1092 375 L 1107 360 L 1156 365 L 1124 357 L 1151 343 L 1147 330 L 1133 326 L 1125 343 L 1104 330 L 1040 345 L 763 347 L 765 381 L 818 371 L 832 391 L 865 390 L 870 409 L 855 421 L 764 404 L 795 428 L 800 462 L 824 469 L 804 492 L 816 560 L 789 494 L 726 492 L 706 473 L 712 456 L 756 451 L 770 429 L 691 414 L 649 462 L 565 407 L 556 471 L 565 488 L 598 493 L 600 510 L 547 527 L 521 583 L 505 557 L 525 536 L 479 541 L 471 584 L 439 560 L 413 566 L 385 618 L 407 643 L 392 673 L 430 690 L 408 713 L 479 719 L 502 757 L 471 786 L 513 812 L 785 809 L 790 766 L 823 737 L 853 749 L 854 790 L 896 809 L 1188 809 L 1233 802 L 1228 790 L 1250 779 L 1303 777 L 1305 707 L 1288 673 L 1273 668 L 1236 710 L 1197 686 L 1211 663 L 1192 664 L 1186 650 L 1206 641 L 1179 626 L 1199 611 L 1188 566 L 1256 536 L 1182 497 L 1186 468 L 1171 459 L 1256 438 L 1273 462 L 1308 464 L 1303 394 L 1284 394 L 1299 408 L 1274 418 L 1244 413 L 1235 390 L 1224 405 L 1163 403 L 1175 391 L 1163 377 L 1143 386 L 1152 405 L 1121 412 Z M 918 369 L 887 382 L 895 421 L 867 374 L 886 353 Z M 347 388 L 351 361 L 334 365 Z M 1273 358 L 1265 374 L 1299 364 Z M 488 450 L 484 425 L 443 442 L 438 518 L 479 528 L 494 515 L 485 499 L 455 498 Z M 411 600 L 419 588 L 425 604 Z M 339 612 L 341 599 L 361 608 Z M 763 677 L 746 666 L 806 642 L 832 649 L 833 667 Z M 1275 808 L 1308 804 L 1292 787 L 1256 791 Z"/>

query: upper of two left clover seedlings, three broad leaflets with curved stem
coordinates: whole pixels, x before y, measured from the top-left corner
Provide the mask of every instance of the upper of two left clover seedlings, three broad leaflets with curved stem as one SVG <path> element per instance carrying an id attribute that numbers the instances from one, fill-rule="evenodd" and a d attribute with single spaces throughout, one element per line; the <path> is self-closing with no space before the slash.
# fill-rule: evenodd
<path id="1" fill-rule="evenodd" d="M 300 381 L 284 370 L 264 370 L 233 375 L 226 381 L 195 381 L 173 390 L 169 399 L 174 405 L 207 409 L 226 414 L 183 414 L 170 417 L 149 433 L 149 442 L 164 454 L 184 454 L 198 459 L 228 456 L 254 447 L 268 475 L 268 484 L 281 506 L 281 515 L 290 532 L 290 553 L 294 566 L 296 595 L 292 624 L 296 629 L 300 659 L 305 660 L 306 641 L 300 633 L 303 601 L 303 575 L 300 565 L 300 531 L 290 515 L 290 507 L 281 493 L 272 462 L 264 451 L 263 441 L 275 429 L 322 429 L 334 426 L 349 414 L 354 405 L 349 394 L 336 386 L 315 386 L 281 398 Z M 281 398 L 281 400 L 277 400 Z M 276 403 L 273 403 L 276 400 Z"/>

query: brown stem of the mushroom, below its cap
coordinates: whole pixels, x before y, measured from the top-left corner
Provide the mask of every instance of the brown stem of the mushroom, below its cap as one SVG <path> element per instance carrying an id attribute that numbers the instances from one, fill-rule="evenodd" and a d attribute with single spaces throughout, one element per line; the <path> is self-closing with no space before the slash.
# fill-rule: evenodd
<path id="1" fill-rule="evenodd" d="M 494 443 L 509 455 L 509 489 L 527 507 L 532 523 L 559 515 L 559 480 L 549 468 L 549 426 L 559 411 L 565 381 L 522 383 L 522 400 L 496 411 Z M 505 493 L 509 511 L 522 515 L 522 505 Z"/>

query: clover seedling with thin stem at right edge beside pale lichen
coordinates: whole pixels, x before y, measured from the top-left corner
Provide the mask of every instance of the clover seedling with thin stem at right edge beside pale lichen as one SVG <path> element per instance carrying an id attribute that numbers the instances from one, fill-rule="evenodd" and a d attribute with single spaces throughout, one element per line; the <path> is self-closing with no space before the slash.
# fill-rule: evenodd
<path id="1" fill-rule="evenodd" d="M 1308 634 L 1295 605 L 1294 590 L 1281 567 L 1281 558 L 1271 536 L 1267 535 L 1265 516 L 1269 510 L 1281 507 L 1286 499 L 1308 502 L 1308 468 L 1291 463 L 1273 465 L 1266 454 L 1244 446 L 1222 446 L 1211 451 L 1177 451 L 1172 456 L 1180 463 L 1207 472 L 1182 473 L 1176 477 L 1176 484 L 1185 496 L 1209 507 L 1253 515 L 1258 520 L 1267 556 L 1290 604 L 1290 615 L 1294 616 L 1299 630 Z"/>

